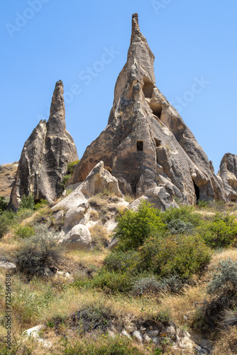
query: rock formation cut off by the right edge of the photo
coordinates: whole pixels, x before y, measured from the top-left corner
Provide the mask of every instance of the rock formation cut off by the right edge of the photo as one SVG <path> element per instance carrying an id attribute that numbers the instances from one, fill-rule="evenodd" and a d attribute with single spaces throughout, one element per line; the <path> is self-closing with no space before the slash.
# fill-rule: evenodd
<path id="1" fill-rule="evenodd" d="M 226 200 L 237 202 L 237 156 L 226 153 L 221 159 L 217 176 L 224 185 Z"/>

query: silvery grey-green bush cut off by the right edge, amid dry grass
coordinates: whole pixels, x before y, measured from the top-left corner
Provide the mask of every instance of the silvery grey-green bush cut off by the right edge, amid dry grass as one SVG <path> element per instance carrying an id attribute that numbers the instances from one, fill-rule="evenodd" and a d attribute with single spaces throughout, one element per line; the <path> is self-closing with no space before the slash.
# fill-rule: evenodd
<path id="1" fill-rule="evenodd" d="M 212 280 L 207 285 L 207 292 L 210 295 L 236 295 L 237 261 L 231 259 L 220 261 L 211 276 Z"/>

